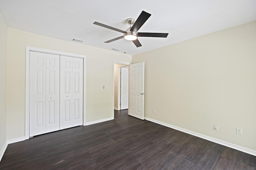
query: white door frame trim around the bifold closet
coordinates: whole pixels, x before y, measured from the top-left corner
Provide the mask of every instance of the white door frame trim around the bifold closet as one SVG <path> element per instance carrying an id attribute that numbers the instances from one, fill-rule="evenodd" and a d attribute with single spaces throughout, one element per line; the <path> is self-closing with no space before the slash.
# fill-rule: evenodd
<path id="1" fill-rule="evenodd" d="M 29 90 L 30 90 L 30 51 L 41 53 L 50 53 L 57 55 L 65 55 L 69 57 L 78 57 L 84 59 L 84 81 L 83 81 L 83 125 L 86 125 L 86 56 L 72 53 L 65 53 L 61 51 L 53 51 L 48 49 L 40 49 L 36 47 L 26 46 L 26 66 L 25 66 L 25 140 L 29 139 Z"/>

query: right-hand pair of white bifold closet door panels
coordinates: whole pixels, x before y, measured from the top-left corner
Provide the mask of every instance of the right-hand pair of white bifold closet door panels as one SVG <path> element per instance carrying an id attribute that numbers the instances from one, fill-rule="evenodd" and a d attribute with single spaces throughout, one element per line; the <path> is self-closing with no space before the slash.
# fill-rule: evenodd
<path id="1" fill-rule="evenodd" d="M 60 56 L 60 129 L 83 124 L 83 59 Z"/>

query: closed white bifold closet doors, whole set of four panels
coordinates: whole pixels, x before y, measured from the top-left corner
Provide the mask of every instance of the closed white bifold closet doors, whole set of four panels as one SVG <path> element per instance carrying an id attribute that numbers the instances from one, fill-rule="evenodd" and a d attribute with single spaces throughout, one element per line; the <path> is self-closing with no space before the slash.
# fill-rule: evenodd
<path id="1" fill-rule="evenodd" d="M 83 60 L 30 51 L 30 137 L 83 124 Z"/>

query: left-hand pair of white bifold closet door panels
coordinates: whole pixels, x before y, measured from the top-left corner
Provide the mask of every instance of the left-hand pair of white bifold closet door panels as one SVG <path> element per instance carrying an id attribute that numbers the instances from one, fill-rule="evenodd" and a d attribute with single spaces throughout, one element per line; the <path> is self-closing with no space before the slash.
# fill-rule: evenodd
<path id="1" fill-rule="evenodd" d="M 60 55 L 30 51 L 30 132 L 60 129 Z"/>

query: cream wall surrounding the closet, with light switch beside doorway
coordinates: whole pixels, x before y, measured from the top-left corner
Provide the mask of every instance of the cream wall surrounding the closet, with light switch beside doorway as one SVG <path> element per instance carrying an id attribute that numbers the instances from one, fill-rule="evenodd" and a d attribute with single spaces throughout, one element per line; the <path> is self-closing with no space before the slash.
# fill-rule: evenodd
<path id="1" fill-rule="evenodd" d="M 86 122 L 113 116 L 113 61 L 131 63 L 130 55 L 8 28 L 7 139 L 25 134 L 25 46 L 86 55 Z"/>

